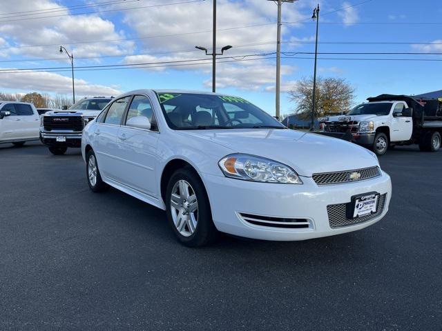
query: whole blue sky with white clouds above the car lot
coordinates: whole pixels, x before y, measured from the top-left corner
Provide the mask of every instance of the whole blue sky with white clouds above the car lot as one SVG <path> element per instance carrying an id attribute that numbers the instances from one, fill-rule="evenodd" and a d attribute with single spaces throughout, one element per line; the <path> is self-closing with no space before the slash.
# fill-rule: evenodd
<path id="1" fill-rule="evenodd" d="M 209 50 L 211 48 L 211 32 L 201 31 L 211 30 L 212 1 L 149 7 L 160 3 L 184 1 L 188 0 L 131 0 L 126 3 L 114 0 L 110 5 L 95 6 L 103 1 L 37 0 L 30 3 L 24 0 L 3 0 L 6 4 L 0 8 L 0 61 L 2 61 L 0 68 L 4 70 L 5 68 L 66 67 L 68 65 L 66 55 L 58 54 L 56 45 L 59 43 L 74 52 L 76 66 L 204 59 L 202 52 L 193 50 L 197 44 L 206 46 Z M 82 4 L 87 4 L 88 7 L 68 8 Z M 283 52 L 314 51 L 312 41 L 316 26 L 309 17 L 315 4 L 316 1 L 299 0 L 296 3 L 283 5 L 283 21 L 302 21 L 283 26 L 282 39 L 285 41 L 282 43 Z M 442 52 L 441 1 L 416 3 L 410 0 L 327 0 L 321 1 L 320 6 L 319 52 Z M 123 8 L 137 9 L 121 10 Z M 28 12 L 29 10 L 49 11 L 35 14 L 36 12 Z M 96 12 L 79 14 L 91 11 Z M 21 13 L 9 14 L 17 12 Z M 59 14 L 65 16 L 35 19 L 39 16 Z M 274 21 L 276 21 L 276 5 L 271 1 L 219 0 L 218 46 L 231 44 L 233 48 L 227 51 L 225 56 L 236 56 L 237 60 L 242 59 L 240 57 L 242 55 L 274 52 L 276 27 L 275 24 L 271 24 Z M 249 28 L 241 28 L 244 26 Z M 233 29 L 228 30 L 230 28 Z M 188 32 L 191 34 L 186 34 Z M 297 41 L 304 43 L 296 43 Z M 158 54 L 159 52 L 163 54 Z M 111 57 L 103 58 L 106 56 Z M 93 59 L 77 59 L 77 57 L 93 57 Z M 268 57 L 272 58 L 274 55 Z M 291 112 L 295 106 L 289 102 L 286 91 L 294 86 L 296 80 L 313 74 L 313 59 L 300 59 L 300 57 L 313 56 L 298 54 L 282 59 L 282 87 L 285 91 L 281 96 L 282 113 Z M 320 54 L 318 74 L 323 77 L 346 79 L 356 88 L 356 102 L 381 93 L 419 94 L 442 89 L 440 74 L 442 61 L 324 59 L 327 57 L 442 60 L 441 55 Z M 56 60 L 52 60 L 54 58 Z M 275 60 L 256 58 L 245 58 L 253 59 L 252 61 L 220 63 L 218 92 L 240 95 L 273 114 Z M 23 61 L 25 59 L 32 61 Z M 40 61 L 41 59 L 51 60 Z M 228 60 L 233 61 L 233 59 L 224 61 Z M 44 69 L 37 71 L 39 72 L 8 74 L 1 72 L 0 90 L 2 92 L 37 90 L 50 94 L 70 94 L 69 71 L 50 73 Z M 81 95 L 115 94 L 137 88 L 211 90 L 210 61 L 198 66 L 136 70 L 77 70 L 75 77 L 78 79 L 77 91 Z"/>

